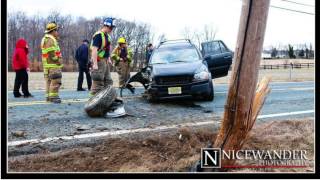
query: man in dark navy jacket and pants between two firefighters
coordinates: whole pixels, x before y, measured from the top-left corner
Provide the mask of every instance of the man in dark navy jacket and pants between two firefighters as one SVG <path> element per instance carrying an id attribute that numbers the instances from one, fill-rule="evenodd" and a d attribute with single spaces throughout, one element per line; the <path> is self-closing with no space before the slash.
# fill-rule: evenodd
<path id="1" fill-rule="evenodd" d="M 88 84 L 88 90 L 91 89 L 91 76 L 89 73 L 89 47 L 88 47 L 89 41 L 88 40 L 83 40 L 82 45 L 78 47 L 76 50 L 76 55 L 75 58 L 78 62 L 78 67 L 79 67 L 79 77 L 78 77 L 78 91 L 85 91 L 85 89 L 82 88 L 82 83 L 83 83 L 83 73 L 86 73 L 86 78 L 87 78 L 87 84 Z"/>

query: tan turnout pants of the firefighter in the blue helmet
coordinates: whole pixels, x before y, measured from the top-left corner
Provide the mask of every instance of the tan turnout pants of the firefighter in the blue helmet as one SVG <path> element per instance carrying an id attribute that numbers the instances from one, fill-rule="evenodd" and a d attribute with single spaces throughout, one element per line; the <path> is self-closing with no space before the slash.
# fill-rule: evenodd
<path id="1" fill-rule="evenodd" d="M 109 66 L 107 59 L 101 59 L 98 61 L 98 69 L 91 71 L 92 86 L 90 96 L 95 95 L 107 86 L 113 85 Z"/>

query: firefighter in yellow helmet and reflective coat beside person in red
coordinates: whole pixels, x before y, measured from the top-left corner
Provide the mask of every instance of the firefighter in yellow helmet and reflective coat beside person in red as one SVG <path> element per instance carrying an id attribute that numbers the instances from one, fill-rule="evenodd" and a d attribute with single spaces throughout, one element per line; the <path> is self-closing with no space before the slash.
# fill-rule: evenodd
<path id="1" fill-rule="evenodd" d="M 58 28 L 55 22 L 46 25 L 45 35 L 41 40 L 42 64 L 46 81 L 46 100 L 61 103 L 59 88 L 62 78 L 62 58 L 58 45 Z"/>

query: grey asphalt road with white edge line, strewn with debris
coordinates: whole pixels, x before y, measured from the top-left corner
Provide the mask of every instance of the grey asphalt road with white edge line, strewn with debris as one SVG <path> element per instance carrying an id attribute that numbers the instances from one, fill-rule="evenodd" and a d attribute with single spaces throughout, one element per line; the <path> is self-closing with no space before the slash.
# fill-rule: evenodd
<path id="1" fill-rule="evenodd" d="M 257 123 L 269 120 L 296 119 L 314 116 L 314 82 L 271 83 L 271 93 L 263 106 Z M 224 111 L 228 85 L 214 86 L 215 99 L 207 101 L 175 101 L 149 103 L 141 96 L 127 96 L 127 116 L 121 118 L 90 118 L 84 112 L 88 91 L 63 90 L 62 104 L 44 101 L 44 91 L 32 92 L 34 98 L 13 98 L 8 92 L 8 146 L 9 154 L 37 151 L 35 144 L 61 144 L 70 146 L 82 140 L 115 134 L 165 130 L 181 125 L 209 125 L 219 127 Z M 137 94 L 143 89 L 137 88 Z M 86 130 L 79 131 L 85 125 Z M 13 135 L 24 131 L 24 137 Z M 60 143 L 60 145 L 59 145 Z M 61 145 L 62 146 L 62 145 Z M 24 147 L 24 148 L 21 148 Z M 37 146 L 39 149 L 39 146 Z M 40 148 L 41 149 L 41 148 Z"/>

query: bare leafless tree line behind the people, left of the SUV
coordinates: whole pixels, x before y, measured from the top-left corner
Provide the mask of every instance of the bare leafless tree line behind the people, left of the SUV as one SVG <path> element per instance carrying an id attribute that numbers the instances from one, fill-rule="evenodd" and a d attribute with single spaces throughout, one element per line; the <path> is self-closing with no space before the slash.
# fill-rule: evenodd
<path id="1" fill-rule="evenodd" d="M 45 26 L 48 22 L 55 21 L 61 28 L 59 30 L 59 45 L 63 57 L 63 71 L 76 71 L 77 63 L 74 55 L 83 39 L 91 41 L 92 35 L 100 29 L 104 17 L 86 19 L 62 15 L 53 11 L 47 17 L 39 14 L 27 16 L 25 12 L 18 11 L 8 14 L 8 66 L 12 71 L 12 55 L 15 44 L 19 38 L 24 38 L 29 45 L 30 69 L 42 71 L 41 39 L 44 36 Z M 139 69 L 145 63 L 145 48 L 153 41 L 154 34 L 151 25 L 143 22 L 127 21 L 117 18 L 117 27 L 113 30 L 111 46 L 117 45 L 119 37 L 126 38 L 129 47 L 134 52 L 133 70 Z"/>

